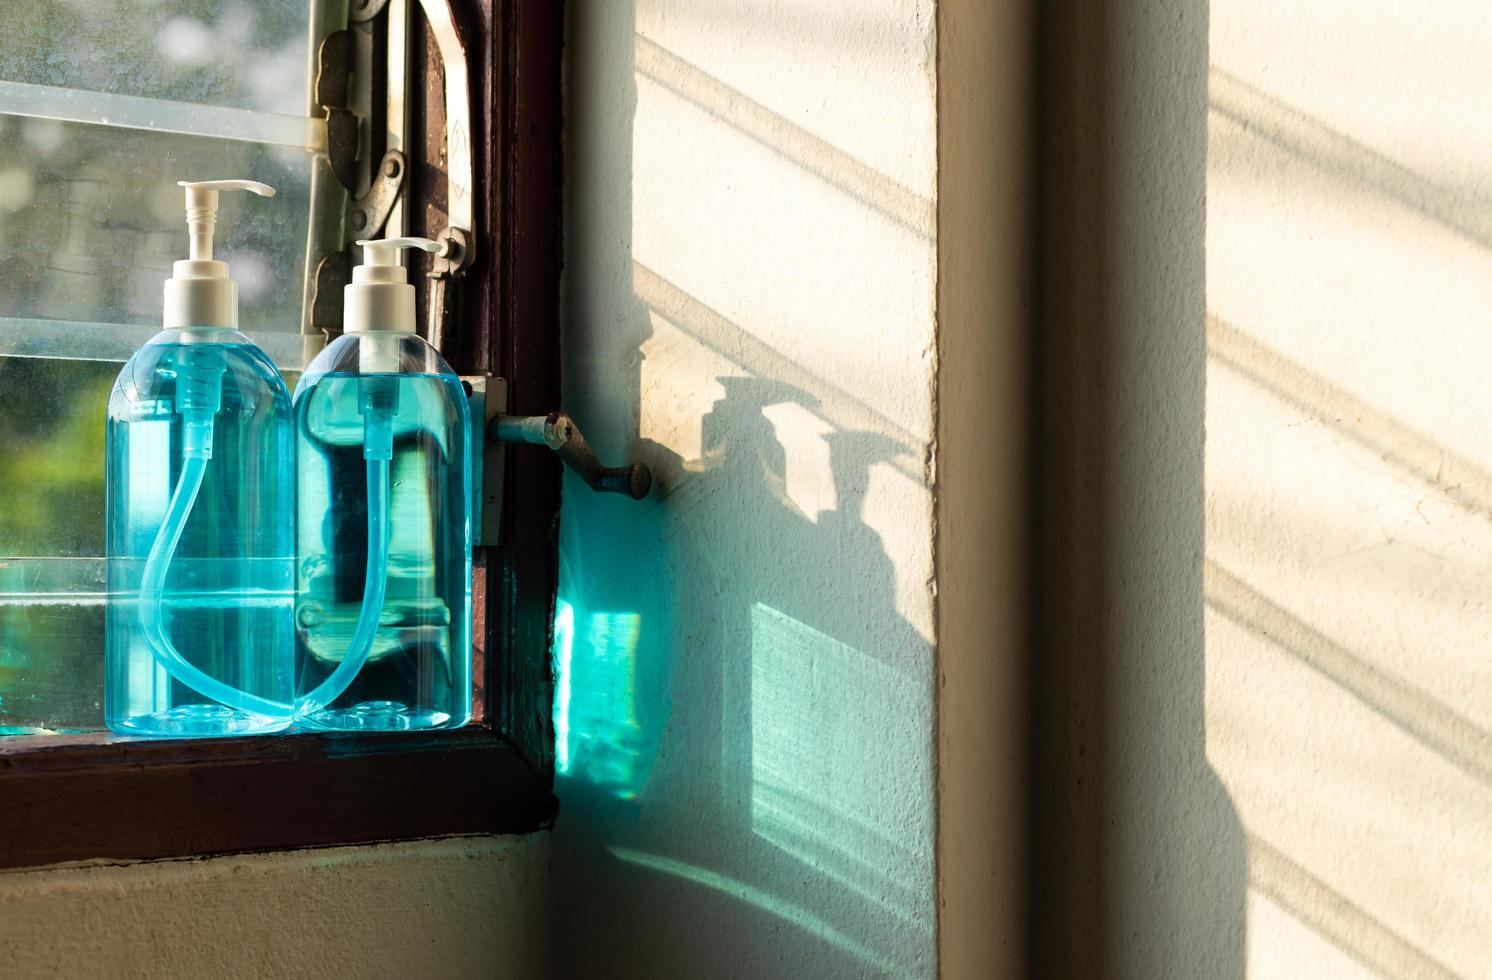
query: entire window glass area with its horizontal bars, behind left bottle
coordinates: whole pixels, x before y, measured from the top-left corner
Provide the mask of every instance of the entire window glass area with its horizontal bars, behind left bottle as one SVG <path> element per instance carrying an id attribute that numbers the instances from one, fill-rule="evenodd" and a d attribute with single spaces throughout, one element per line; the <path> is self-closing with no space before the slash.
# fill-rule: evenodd
<path id="1" fill-rule="evenodd" d="M 178 179 L 221 198 L 240 325 L 285 367 L 313 183 L 310 0 L 30 0 L 0 31 L 0 734 L 101 726 L 104 409 L 185 258 Z M 152 101 L 154 100 L 154 101 Z M 313 175 L 318 175 L 313 182 Z"/>

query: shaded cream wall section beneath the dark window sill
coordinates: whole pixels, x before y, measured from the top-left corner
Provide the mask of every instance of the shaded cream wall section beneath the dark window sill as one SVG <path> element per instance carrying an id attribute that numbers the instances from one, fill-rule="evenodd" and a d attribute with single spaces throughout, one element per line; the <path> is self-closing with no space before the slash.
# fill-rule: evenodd
<path id="1" fill-rule="evenodd" d="M 549 835 L 0 873 L 0 977 L 543 976 Z"/>

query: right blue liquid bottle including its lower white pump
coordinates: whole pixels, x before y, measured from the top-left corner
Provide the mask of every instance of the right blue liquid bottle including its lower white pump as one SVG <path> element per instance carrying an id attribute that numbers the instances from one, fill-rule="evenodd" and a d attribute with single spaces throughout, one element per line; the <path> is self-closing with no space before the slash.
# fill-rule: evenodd
<path id="1" fill-rule="evenodd" d="M 471 713 L 471 447 L 461 380 L 415 334 L 400 249 L 358 242 L 343 334 L 295 386 L 297 725 Z"/>

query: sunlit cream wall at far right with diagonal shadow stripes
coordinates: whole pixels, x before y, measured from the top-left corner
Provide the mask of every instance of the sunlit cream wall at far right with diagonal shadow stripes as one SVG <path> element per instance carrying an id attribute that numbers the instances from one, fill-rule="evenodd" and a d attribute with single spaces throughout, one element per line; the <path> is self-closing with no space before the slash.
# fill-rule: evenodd
<path id="1" fill-rule="evenodd" d="M 1210 33 L 1207 753 L 1249 974 L 1485 977 L 1492 13 L 1213 0 Z"/>

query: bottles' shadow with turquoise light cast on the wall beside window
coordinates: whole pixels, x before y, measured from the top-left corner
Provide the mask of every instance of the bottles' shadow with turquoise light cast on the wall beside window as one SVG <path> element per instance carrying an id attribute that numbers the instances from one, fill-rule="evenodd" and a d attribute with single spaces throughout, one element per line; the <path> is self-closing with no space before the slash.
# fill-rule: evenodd
<path id="1" fill-rule="evenodd" d="M 659 474 L 653 498 L 565 476 L 557 832 L 562 914 L 591 911 L 585 949 L 561 959 L 594 973 L 631 937 L 673 941 L 655 920 L 673 910 L 668 922 L 715 934 L 688 955 L 743 976 L 789 961 L 812 976 L 932 976 L 931 647 L 864 515 L 871 468 L 903 447 L 828 433 L 834 506 L 809 515 L 786 495 L 767 409 L 815 398 L 718 380 L 697 456 L 637 443 Z"/>

